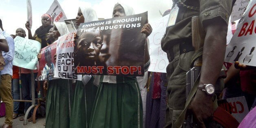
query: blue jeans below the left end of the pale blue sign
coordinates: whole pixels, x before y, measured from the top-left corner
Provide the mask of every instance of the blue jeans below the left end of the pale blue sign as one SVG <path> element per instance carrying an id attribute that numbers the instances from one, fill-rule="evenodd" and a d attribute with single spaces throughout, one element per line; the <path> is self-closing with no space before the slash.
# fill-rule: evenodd
<path id="1" fill-rule="evenodd" d="M 20 99 L 20 84 L 19 79 L 11 80 L 11 95 L 13 99 Z M 13 102 L 13 113 L 18 114 L 20 102 Z"/>

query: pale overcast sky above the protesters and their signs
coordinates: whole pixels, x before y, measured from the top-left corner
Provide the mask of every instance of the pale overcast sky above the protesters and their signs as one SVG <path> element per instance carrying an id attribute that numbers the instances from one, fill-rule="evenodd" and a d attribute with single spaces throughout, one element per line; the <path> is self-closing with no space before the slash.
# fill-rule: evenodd
<path id="1" fill-rule="evenodd" d="M 32 4 L 32 35 L 35 29 L 40 27 L 41 16 L 49 10 L 54 0 L 31 0 Z M 95 9 L 98 18 L 112 18 L 115 3 L 122 2 L 130 5 L 135 13 L 148 11 L 149 22 L 160 18 L 161 13 L 172 6 L 172 0 L 58 0 L 66 17 L 75 18 L 79 6 L 91 6 Z M 15 34 L 17 28 L 23 28 L 26 33 L 25 23 L 27 20 L 26 0 L 0 0 L 0 19 L 3 28 L 9 34 Z"/>

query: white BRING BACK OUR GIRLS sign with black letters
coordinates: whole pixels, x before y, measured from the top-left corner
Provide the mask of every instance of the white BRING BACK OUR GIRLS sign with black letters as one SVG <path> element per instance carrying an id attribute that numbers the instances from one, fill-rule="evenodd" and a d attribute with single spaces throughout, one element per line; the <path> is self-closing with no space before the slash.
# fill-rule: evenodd
<path id="1" fill-rule="evenodd" d="M 70 32 L 59 37 L 56 50 L 56 69 L 54 72 L 54 77 L 63 79 L 77 79 L 81 81 L 82 75 L 75 74 L 74 32 Z"/>

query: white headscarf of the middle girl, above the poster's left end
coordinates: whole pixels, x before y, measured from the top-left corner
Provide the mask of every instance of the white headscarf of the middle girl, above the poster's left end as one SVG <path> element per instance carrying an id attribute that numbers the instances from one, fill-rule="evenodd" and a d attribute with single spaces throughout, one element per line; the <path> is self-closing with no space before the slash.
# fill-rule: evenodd
<path id="1" fill-rule="evenodd" d="M 98 17 L 96 12 L 91 8 L 91 7 L 79 7 L 81 9 L 81 12 L 84 16 L 84 22 L 92 22 L 92 21 L 97 21 Z"/>

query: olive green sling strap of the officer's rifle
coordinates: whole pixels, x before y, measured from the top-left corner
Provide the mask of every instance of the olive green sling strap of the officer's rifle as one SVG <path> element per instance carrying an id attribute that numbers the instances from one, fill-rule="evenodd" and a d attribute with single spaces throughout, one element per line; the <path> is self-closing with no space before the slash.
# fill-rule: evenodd
<path id="1" fill-rule="evenodd" d="M 192 61 L 191 61 L 190 66 L 192 67 L 194 64 L 194 61 L 198 57 L 201 57 L 202 55 L 203 55 L 203 47 L 200 48 L 199 50 L 195 51 L 194 55 L 192 56 Z M 194 82 L 194 85 L 191 88 L 191 91 L 188 95 L 188 99 L 186 101 L 184 110 L 181 112 L 181 115 L 179 115 L 177 120 L 174 122 L 174 128 L 180 128 L 185 120 L 185 115 L 188 110 L 188 106 L 189 106 L 190 102 L 192 101 L 194 95 L 196 94 L 197 88 L 199 86 L 200 75 L 201 75 L 201 71 L 200 71 L 198 77 L 196 78 L 196 82 Z M 218 108 L 217 98 L 216 98 L 215 94 L 212 96 L 212 101 L 213 101 L 213 110 L 215 111 Z"/>

